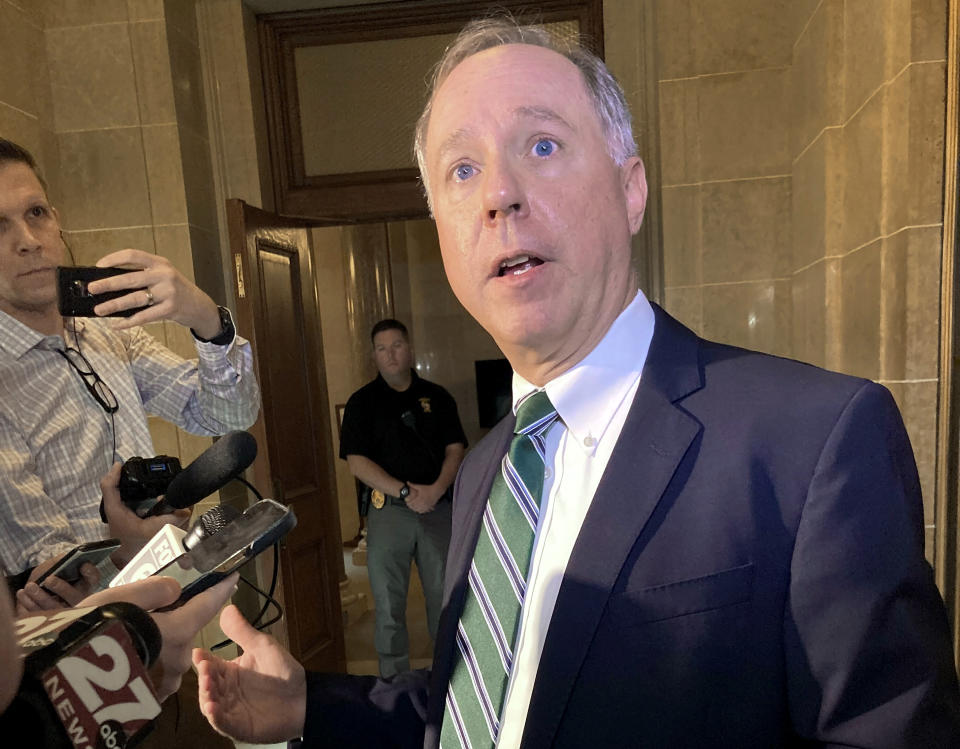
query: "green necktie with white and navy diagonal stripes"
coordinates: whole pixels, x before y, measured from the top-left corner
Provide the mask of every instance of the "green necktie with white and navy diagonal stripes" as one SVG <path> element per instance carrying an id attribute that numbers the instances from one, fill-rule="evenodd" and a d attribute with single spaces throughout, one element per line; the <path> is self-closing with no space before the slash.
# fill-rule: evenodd
<path id="1" fill-rule="evenodd" d="M 496 745 L 540 515 L 545 434 L 556 419 L 543 391 L 517 409 L 515 436 L 490 489 L 468 573 L 442 749 Z"/>

